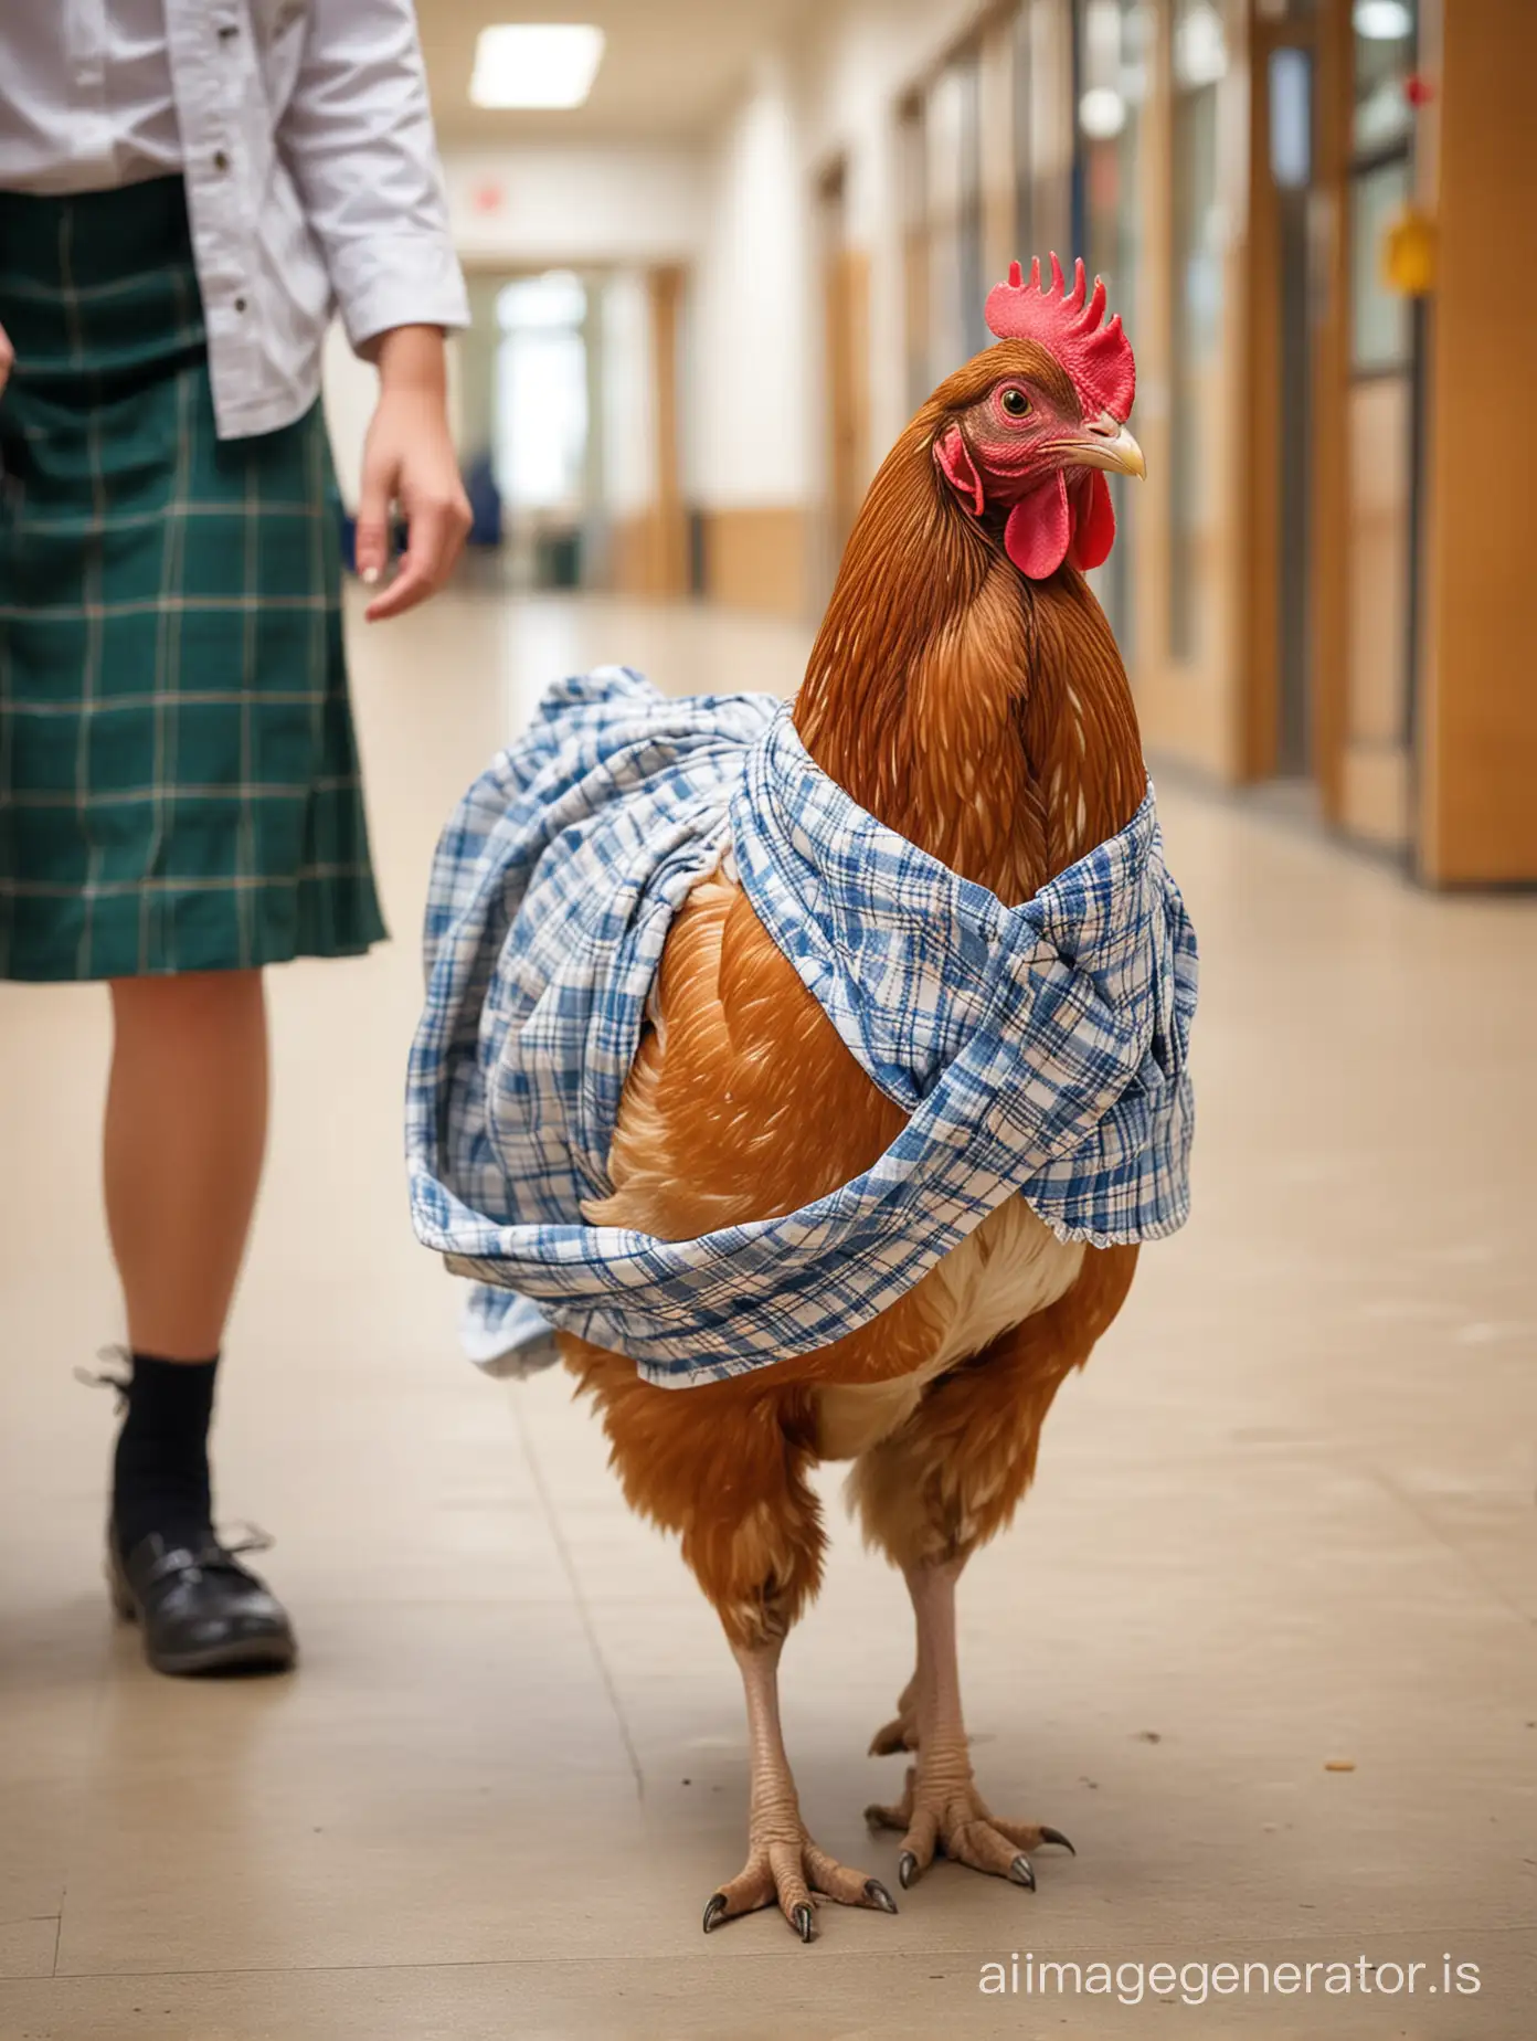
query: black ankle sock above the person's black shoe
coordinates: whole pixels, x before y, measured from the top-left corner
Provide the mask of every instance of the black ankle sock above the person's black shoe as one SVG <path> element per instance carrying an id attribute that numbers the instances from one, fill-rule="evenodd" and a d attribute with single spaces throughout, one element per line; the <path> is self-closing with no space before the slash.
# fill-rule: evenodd
<path id="1" fill-rule="evenodd" d="M 208 1531 L 208 1421 L 214 1414 L 210 1361 L 133 1355 L 129 1408 L 112 1463 L 112 1531 L 122 1553 L 157 1531 L 171 1543 Z"/>

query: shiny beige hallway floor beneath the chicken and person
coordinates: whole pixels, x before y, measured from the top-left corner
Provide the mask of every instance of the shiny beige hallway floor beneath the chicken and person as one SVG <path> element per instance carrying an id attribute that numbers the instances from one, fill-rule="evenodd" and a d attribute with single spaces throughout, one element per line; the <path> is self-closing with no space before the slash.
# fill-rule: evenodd
<path id="1" fill-rule="evenodd" d="M 280 1533 L 294 1680 L 157 1680 L 108 1623 L 110 1410 L 71 1382 L 116 1333 L 104 1004 L 0 988 L 0 2037 L 1525 2041 L 1537 904 L 1425 898 L 1170 792 L 1206 959 L 1196 1218 L 1147 1253 L 963 1588 L 984 1790 L 1080 1855 L 1043 1853 L 1035 1896 L 939 1865 L 900 1919 L 827 1916 L 812 1949 L 770 1914 L 704 1941 L 743 1847 L 735 1672 L 563 1380 L 457 1359 L 398 1159 L 435 831 L 539 686 L 602 657 L 786 688 L 804 639 L 461 596 L 359 643 L 398 941 L 274 976 L 271 1172 L 220 1425 L 225 1510 Z M 908 1619 L 835 1486 L 788 1733 L 821 1841 L 892 1880 L 859 1810 L 894 1788 L 863 1751 Z M 1108 2000 L 984 1996 L 1014 1951 L 1431 1968 L 1412 1998 L 1317 1996 L 1323 1972 L 1315 1996 L 1200 2008 L 1121 2002 L 1131 1972 Z M 1443 1953 L 1476 1996 L 1427 1992 Z"/>

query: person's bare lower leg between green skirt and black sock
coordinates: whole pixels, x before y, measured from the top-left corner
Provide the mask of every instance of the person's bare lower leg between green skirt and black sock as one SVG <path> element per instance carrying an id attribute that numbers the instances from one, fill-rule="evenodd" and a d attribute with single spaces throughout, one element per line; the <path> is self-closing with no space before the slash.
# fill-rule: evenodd
<path id="1" fill-rule="evenodd" d="M 225 1337 L 267 1139 L 259 972 L 112 982 L 104 1190 L 129 1345 L 206 1361 Z"/>

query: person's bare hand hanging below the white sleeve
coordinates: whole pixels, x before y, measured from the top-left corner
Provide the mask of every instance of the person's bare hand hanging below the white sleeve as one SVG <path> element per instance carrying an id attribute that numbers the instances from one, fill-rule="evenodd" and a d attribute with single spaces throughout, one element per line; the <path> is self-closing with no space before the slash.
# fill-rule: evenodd
<path id="1" fill-rule="evenodd" d="M 363 441 L 357 504 L 357 571 L 365 584 L 390 563 L 390 504 L 406 518 L 406 553 L 365 616 L 400 616 L 437 594 L 469 531 L 469 498 L 459 480 L 447 412 L 443 335 L 437 327 L 396 327 L 367 349 L 380 367 L 380 402 Z"/>

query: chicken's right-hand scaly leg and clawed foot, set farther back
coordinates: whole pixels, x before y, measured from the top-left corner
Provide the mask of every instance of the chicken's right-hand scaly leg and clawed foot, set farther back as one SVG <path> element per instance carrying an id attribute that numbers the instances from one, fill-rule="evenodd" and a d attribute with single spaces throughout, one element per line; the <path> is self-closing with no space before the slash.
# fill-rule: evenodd
<path id="1" fill-rule="evenodd" d="M 970 1863 L 972 1870 L 1012 1878 L 1035 1890 L 1029 1853 L 1041 1843 L 1074 1845 L 1057 1829 L 1039 1823 L 1000 1821 L 976 1790 L 965 1751 L 961 1682 L 955 1653 L 955 1582 L 959 1563 L 916 1565 L 906 1574 L 919 1625 L 919 1667 L 898 1702 L 898 1719 L 880 1731 L 872 1749 L 904 1749 L 894 1731 L 916 1727 L 919 1761 L 908 1768 L 906 1790 L 896 1806 L 867 1806 L 865 1821 L 902 1831 L 898 1878 L 910 1886 L 929 1870 L 937 1853 Z"/>

